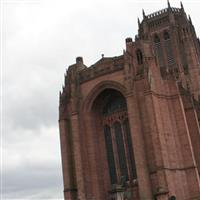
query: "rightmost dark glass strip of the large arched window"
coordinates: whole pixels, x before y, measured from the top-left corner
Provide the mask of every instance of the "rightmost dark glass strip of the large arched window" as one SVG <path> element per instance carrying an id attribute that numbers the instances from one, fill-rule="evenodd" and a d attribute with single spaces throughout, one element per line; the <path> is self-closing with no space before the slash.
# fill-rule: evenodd
<path id="1" fill-rule="evenodd" d="M 128 119 L 126 119 L 123 122 L 123 127 L 124 127 L 124 132 L 125 132 L 127 143 L 128 143 L 128 153 L 129 153 L 129 159 L 130 159 L 130 165 L 131 165 L 130 169 L 131 169 L 133 179 L 136 179 L 137 174 L 136 174 L 136 168 L 135 168 L 135 158 L 133 154 L 133 146 L 132 146 L 132 139 L 131 139 Z"/>

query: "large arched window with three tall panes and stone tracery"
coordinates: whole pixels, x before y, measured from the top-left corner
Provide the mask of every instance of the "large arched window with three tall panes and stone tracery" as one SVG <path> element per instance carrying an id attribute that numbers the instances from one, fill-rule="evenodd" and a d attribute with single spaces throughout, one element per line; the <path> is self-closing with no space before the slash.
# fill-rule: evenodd
<path id="1" fill-rule="evenodd" d="M 101 107 L 111 184 L 137 178 L 126 100 L 116 90 L 103 92 Z"/>

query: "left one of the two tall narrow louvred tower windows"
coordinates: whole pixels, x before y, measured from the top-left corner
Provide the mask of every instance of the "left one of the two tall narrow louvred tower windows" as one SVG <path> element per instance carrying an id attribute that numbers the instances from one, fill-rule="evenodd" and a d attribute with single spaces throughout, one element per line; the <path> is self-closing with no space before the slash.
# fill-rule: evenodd
<path id="1" fill-rule="evenodd" d="M 164 67 L 164 56 L 163 56 L 160 38 L 158 35 L 154 36 L 154 48 L 155 48 L 155 53 L 156 53 L 159 66 Z"/>

